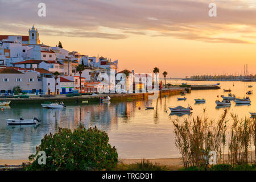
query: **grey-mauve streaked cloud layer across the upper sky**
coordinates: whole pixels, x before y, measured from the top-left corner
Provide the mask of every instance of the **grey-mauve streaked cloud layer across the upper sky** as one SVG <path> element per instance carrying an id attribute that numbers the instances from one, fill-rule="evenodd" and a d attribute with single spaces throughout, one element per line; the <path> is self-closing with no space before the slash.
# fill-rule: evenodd
<path id="1" fill-rule="evenodd" d="M 44 0 L 47 16 L 38 17 L 40 2 L 0 1 L 0 30 L 20 34 L 35 24 L 45 35 L 125 39 L 155 31 L 155 36 L 246 44 L 251 42 L 243 34 L 254 34 L 256 28 L 252 1 L 216 1 L 218 16 L 213 18 L 208 16 L 208 0 Z"/>

